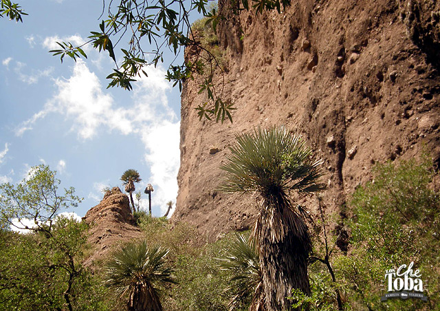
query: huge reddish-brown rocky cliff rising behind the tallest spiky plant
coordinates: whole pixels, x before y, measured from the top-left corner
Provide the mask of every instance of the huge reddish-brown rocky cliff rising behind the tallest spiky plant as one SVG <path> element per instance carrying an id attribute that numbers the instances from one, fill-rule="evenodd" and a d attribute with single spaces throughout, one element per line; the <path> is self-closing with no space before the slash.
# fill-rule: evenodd
<path id="1" fill-rule="evenodd" d="M 181 167 L 173 221 L 215 239 L 252 226 L 257 197 L 219 193 L 234 134 L 285 125 L 325 161 L 323 202 L 339 211 L 376 162 L 430 151 L 439 164 L 437 1 L 292 0 L 281 14 L 230 13 L 219 1 L 225 70 L 214 85 L 237 108 L 234 123 L 199 121 L 202 77 L 181 96 Z M 186 51 L 186 59 L 194 57 Z M 307 202 L 311 211 L 316 200 Z"/>

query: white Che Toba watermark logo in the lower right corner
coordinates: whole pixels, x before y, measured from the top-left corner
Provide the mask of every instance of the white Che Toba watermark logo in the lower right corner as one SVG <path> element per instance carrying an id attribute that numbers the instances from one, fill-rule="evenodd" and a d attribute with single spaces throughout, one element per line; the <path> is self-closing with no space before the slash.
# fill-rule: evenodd
<path id="1" fill-rule="evenodd" d="M 401 265 L 397 270 L 386 270 L 385 285 L 387 293 L 381 297 L 381 301 L 390 298 L 418 298 L 427 301 L 427 297 L 423 294 L 423 281 L 421 280 L 421 272 L 419 269 L 412 270 L 414 262 L 406 266 Z"/>

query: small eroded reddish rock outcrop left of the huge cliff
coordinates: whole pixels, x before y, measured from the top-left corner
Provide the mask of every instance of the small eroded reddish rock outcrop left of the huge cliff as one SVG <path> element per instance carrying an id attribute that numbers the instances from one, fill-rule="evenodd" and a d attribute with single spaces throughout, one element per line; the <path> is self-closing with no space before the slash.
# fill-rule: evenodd
<path id="1" fill-rule="evenodd" d="M 139 228 L 134 226 L 129 197 L 118 187 L 107 191 L 100 204 L 90 208 L 83 221 L 90 226 L 87 242 L 92 247 L 85 265 L 92 268 L 95 261 L 105 261 L 114 246 L 142 237 Z"/>

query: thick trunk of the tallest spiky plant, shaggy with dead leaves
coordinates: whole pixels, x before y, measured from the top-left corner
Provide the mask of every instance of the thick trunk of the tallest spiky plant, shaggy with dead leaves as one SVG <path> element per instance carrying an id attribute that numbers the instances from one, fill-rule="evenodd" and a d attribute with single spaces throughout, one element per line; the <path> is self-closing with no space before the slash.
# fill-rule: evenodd
<path id="1" fill-rule="evenodd" d="M 254 237 L 260 253 L 267 311 L 290 310 L 293 288 L 310 294 L 307 225 L 283 193 L 266 195 L 256 219 Z"/>

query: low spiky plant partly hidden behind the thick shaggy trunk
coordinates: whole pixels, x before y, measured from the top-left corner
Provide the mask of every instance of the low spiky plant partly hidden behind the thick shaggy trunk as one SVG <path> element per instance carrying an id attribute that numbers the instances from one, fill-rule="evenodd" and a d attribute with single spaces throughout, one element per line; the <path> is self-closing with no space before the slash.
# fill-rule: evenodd
<path id="1" fill-rule="evenodd" d="M 219 266 L 230 271 L 232 275 L 230 286 L 226 288 L 232 294 L 230 311 L 249 298 L 249 310 L 265 311 L 263 279 L 254 239 L 249 239 L 249 235 L 237 234 L 228 253 L 219 258 Z"/>

